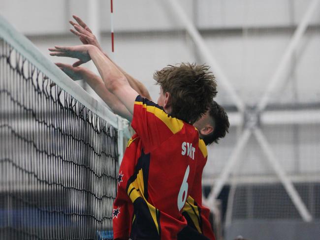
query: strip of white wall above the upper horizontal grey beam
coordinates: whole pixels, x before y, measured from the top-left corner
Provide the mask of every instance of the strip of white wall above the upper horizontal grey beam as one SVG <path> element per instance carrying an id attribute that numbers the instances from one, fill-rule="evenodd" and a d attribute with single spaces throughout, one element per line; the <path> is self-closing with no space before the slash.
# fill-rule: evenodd
<path id="1" fill-rule="evenodd" d="M 178 0 L 200 28 L 277 27 L 297 24 L 311 0 Z M 65 19 L 84 19 L 90 0 L 1 0 L 0 13 L 24 33 L 67 30 Z M 115 0 L 116 30 L 182 27 L 167 0 Z M 110 0 L 100 0 L 102 30 L 110 29 Z M 319 10 L 311 24 L 319 24 Z"/>

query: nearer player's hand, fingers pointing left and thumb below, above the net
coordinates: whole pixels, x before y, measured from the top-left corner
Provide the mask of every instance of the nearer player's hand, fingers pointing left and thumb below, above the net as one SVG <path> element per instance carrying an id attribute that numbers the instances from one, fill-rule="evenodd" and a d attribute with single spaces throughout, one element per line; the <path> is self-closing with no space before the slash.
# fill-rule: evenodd
<path id="1" fill-rule="evenodd" d="M 72 47 L 65 47 L 65 46 L 55 46 L 54 48 L 49 48 L 51 52 L 51 56 L 57 57 L 69 57 L 79 59 L 72 66 L 76 67 L 91 60 L 89 55 L 89 49 L 93 47 L 92 45 L 78 45 Z"/>

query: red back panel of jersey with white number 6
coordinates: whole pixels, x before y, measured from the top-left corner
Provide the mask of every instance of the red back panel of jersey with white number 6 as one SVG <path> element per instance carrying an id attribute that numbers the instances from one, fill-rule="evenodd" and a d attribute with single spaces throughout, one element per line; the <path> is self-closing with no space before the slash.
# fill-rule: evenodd
<path id="1" fill-rule="evenodd" d="M 150 159 L 145 191 L 148 202 L 179 218 L 193 184 L 198 152 L 197 134 L 186 123 L 178 133 L 151 150 L 147 156 Z"/>

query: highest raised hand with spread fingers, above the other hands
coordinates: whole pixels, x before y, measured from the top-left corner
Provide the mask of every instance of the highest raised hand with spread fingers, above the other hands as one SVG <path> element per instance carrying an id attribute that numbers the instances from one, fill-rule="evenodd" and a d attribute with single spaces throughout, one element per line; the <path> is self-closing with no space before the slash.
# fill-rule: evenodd
<path id="1" fill-rule="evenodd" d="M 89 29 L 89 27 L 82 21 L 81 18 L 79 18 L 76 15 L 72 15 L 72 17 L 77 21 L 77 23 L 73 22 L 73 21 L 69 21 L 69 23 L 74 27 L 74 29 L 70 29 L 70 31 L 77 35 L 80 39 L 80 41 L 83 44 L 91 44 L 96 46 L 101 52 L 102 48 L 98 42 L 98 40 L 96 39 L 95 34 L 92 33 L 92 31 Z"/>

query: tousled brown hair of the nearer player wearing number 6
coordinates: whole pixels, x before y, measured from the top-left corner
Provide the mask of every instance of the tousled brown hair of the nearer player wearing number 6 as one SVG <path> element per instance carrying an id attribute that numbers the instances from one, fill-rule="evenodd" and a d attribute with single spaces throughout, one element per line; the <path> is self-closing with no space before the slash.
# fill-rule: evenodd
<path id="1" fill-rule="evenodd" d="M 207 65 L 180 63 L 156 71 L 154 79 L 163 93 L 171 95 L 172 117 L 193 124 L 207 111 L 217 95 L 215 76 Z"/>

